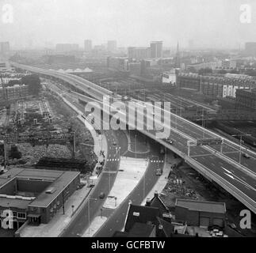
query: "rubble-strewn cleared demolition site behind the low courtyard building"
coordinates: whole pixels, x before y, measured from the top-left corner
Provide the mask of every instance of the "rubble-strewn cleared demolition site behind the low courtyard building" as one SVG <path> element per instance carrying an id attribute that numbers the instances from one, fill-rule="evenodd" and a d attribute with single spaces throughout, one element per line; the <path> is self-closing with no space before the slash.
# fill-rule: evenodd
<path id="1" fill-rule="evenodd" d="M 38 96 L 6 99 L 5 104 L 0 108 L 1 173 L 15 167 L 85 175 L 94 170 L 97 157 L 90 131 L 58 96 L 42 89 Z"/>

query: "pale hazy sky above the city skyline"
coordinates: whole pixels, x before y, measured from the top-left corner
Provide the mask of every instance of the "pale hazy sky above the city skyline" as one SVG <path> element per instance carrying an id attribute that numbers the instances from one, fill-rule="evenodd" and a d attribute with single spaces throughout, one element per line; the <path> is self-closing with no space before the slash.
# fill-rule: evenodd
<path id="1" fill-rule="evenodd" d="M 0 0 L 13 6 L 13 24 L 0 21 L 0 41 L 12 46 L 46 43 L 147 46 L 162 40 L 174 47 L 189 40 L 204 47 L 243 47 L 256 41 L 256 0 Z M 241 4 L 250 4 L 252 21 L 241 24 Z"/>

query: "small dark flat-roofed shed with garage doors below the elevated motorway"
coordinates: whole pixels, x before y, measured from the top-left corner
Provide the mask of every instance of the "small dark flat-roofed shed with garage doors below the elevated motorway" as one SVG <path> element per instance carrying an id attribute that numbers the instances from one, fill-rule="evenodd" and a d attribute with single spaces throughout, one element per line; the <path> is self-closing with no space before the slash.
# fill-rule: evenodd
<path id="1" fill-rule="evenodd" d="M 178 198 L 175 203 L 175 220 L 187 225 L 208 227 L 225 226 L 226 205 L 224 202 L 207 202 Z"/>

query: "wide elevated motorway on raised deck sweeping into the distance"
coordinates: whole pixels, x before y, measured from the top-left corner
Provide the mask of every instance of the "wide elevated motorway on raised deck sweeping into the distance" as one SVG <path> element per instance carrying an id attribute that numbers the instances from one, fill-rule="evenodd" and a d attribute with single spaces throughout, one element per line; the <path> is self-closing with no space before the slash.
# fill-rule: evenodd
<path id="1" fill-rule="evenodd" d="M 17 65 L 13 64 L 13 66 Z M 82 91 L 84 93 L 93 96 L 96 99 L 95 101 L 100 104 L 101 108 L 102 96 L 111 95 L 108 90 L 106 90 L 107 92 L 105 93 L 105 89 L 79 77 L 77 79 L 77 77 L 70 77 L 68 74 L 55 74 L 50 70 L 37 70 L 38 68 L 30 66 L 19 65 L 17 67 L 39 74 L 53 75 L 53 77 L 70 81 L 71 85 L 75 85 L 76 87 L 79 87 L 79 89 L 83 89 Z M 82 99 L 82 95 L 77 95 L 77 97 Z M 136 102 L 136 100 L 134 101 Z M 142 103 L 141 101 L 139 102 Z M 145 107 L 143 103 L 141 106 L 143 108 Z M 115 111 L 115 109 L 117 111 L 117 108 L 112 109 L 113 111 Z M 162 110 L 162 112 L 164 111 L 165 110 Z M 256 213 L 256 153 L 235 142 L 231 142 L 227 138 L 223 138 L 210 130 L 206 130 L 204 127 L 198 126 L 187 119 L 183 119 L 170 111 L 165 112 L 166 117 L 170 120 L 170 124 L 165 125 L 165 123 L 162 122 L 159 122 L 159 124 L 170 130 L 170 138 L 173 140 L 173 144 L 166 142 L 166 139 L 156 138 L 157 130 L 142 129 L 139 131 L 146 134 L 148 137 L 155 139 L 157 142 L 166 146 L 166 148 L 174 151 L 174 153 L 177 153 L 187 164 L 196 169 L 206 178 L 218 183 L 226 191 L 235 196 L 235 198 L 238 198 L 239 201 L 250 210 Z M 139 113 L 141 112 L 137 110 L 136 120 L 138 119 Z M 140 115 L 139 119 L 143 119 L 144 126 L 147 125 L 147 117 L 144 113 Z M 129 120 L 126 120 L 125 123 L 130 125 Z M 194 142 L 201 138 L 222 138 L 222 147 L 220 148 L 220 145 L 188 147 L 188 141 Z M 242 152 L 247 153 L 250 156 L 250 159 L 241 157 Z"/>

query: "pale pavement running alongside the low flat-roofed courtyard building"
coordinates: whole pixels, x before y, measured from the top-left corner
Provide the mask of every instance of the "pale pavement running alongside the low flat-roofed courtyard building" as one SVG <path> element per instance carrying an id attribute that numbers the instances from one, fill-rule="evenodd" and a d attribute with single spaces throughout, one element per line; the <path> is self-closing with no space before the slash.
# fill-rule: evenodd
<path id="1" fill-rule="evenodd" d="M 65 214 L 63 209 L 59 209 L 55 216 L 48 224 L 40 224 L 39 226 L 26 225 L 20 232 L 21 237 L 58 237 L 67 224 L 71 221 L 72 206 L 74 212 L 78 210 L 83 200 L 90 193 L 91 188 L 82 187 L 82 189 L 75 191 L 74 194 L 65 202 Z"/>

